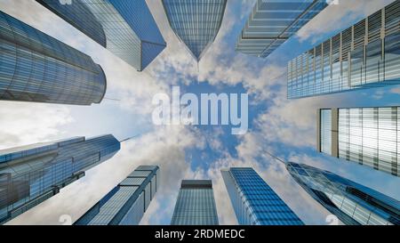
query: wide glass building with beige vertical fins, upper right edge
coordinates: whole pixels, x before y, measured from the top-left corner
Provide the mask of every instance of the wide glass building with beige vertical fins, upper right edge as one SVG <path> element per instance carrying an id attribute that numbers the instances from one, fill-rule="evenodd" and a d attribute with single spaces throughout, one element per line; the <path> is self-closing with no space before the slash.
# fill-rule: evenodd
<path id="1" fill-rule="evenodd" d="M 400 84 L 400 0 L 288 64 L 288 98 Z"/>

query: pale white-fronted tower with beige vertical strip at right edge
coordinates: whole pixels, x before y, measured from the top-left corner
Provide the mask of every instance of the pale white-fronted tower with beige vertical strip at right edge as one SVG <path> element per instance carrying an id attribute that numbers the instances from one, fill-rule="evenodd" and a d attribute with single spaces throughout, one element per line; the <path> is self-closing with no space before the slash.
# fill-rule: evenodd
<path id="1" fill-rule="evenodd" d="M 400 176 L 400 108 L 318 109 L 316 150 Z"/>

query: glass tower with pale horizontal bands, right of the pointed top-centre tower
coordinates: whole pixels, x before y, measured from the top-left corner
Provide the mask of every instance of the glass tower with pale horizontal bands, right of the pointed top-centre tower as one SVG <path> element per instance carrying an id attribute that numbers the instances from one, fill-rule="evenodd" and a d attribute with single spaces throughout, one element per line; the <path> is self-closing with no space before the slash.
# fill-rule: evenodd
<path id="1" fill-rule="evenodd" d="M 257 0 L 236 51 L 268 57 L 327 6 L 326 0 Z"/>

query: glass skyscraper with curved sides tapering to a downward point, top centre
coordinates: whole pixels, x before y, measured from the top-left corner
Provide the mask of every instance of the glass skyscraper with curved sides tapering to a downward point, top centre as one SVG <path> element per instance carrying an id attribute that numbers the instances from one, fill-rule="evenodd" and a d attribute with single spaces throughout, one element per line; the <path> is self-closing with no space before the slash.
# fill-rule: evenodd
<path id="1" fill-rule="evenodd" d="M 227 0 L 162 0 L 173 32 L 200 61 L 220 31 Z"/>

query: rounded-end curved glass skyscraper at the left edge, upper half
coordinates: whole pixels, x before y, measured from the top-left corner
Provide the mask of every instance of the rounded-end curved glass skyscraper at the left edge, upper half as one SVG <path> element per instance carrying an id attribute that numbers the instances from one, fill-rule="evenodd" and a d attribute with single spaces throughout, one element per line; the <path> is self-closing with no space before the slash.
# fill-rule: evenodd
<path id="1" fill-rule="evenodd" d="M 92 58 L 0 11 L 0 100 L 100 103 L 106 76 Z"/>

